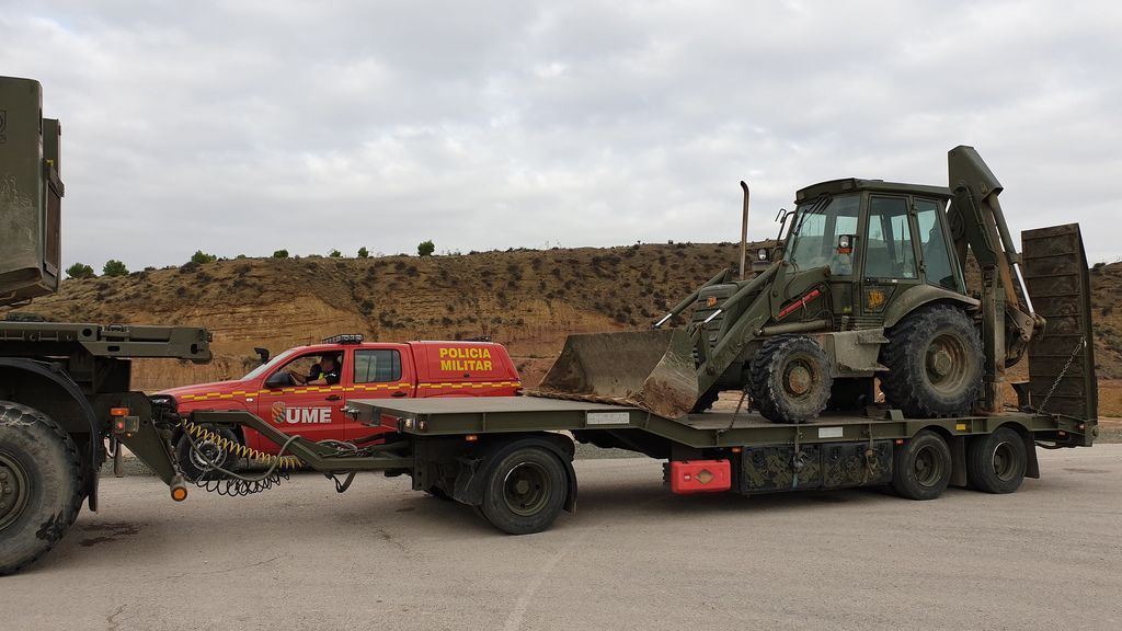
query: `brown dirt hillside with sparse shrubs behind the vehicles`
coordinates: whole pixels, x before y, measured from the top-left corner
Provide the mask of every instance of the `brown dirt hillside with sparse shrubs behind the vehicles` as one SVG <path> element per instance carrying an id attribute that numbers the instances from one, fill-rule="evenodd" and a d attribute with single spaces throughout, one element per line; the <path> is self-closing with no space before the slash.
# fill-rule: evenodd
<path id="1" fill-rule="evenodd" d="M 749 250 L 754 252 L 754 250 Z M 138 362 L 145 390 L 240 376 L 338 332 L 408 340 L 491 336 L 536 383 L 564 338 L 649 327 L 724 266 L 736 244 L 634 245 L 378 258 L 245 258 L 70 280 L 20 312 L 57 321 L 178 323 L 214 332 L 215 360 Z M 1104 414 L 1122 414 L 1122 264 L 1092 269 Z M 0 311 L 0 317 L 3 312 Z"/>

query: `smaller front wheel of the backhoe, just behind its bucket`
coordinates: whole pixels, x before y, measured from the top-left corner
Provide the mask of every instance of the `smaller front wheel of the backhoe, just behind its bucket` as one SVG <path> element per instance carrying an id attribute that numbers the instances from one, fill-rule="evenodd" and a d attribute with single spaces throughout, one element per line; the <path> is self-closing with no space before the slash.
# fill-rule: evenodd
<path id="1" fill-rule="evenodd" d="M 756 409 L 775 423 L 817 419 L 834 384 L 826 351 L 803 336 L 766 339 L 752 359 L 749 381 Z"/>

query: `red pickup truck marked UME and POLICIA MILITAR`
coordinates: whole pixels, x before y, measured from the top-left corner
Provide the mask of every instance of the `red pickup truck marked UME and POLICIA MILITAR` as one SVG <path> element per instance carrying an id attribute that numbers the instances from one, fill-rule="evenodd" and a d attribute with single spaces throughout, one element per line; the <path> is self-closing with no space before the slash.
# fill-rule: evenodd
<path id="1" fill-rule="evenodd" d="M 199 410 L 243 410 L 280 431 L 310 440 L 366 440 L 378 430 L 343 413 L 351 399 L 425 396 L 511 396 L 522 386 L 506 349 L 486 341 L 364 342 L 359 335 L 291 348 L 237 381 L 174 387 L 151 395 L 153 403 L 180 414 Z M 251 449 L 275 454 L 277 446 L 250 428 L 219 431 Z M 229 468 L 227 449 L 204 441 L 200 449 Z M 176 442 L 183 473 L 197 477 L 205 465 L 187 437 Z"/>

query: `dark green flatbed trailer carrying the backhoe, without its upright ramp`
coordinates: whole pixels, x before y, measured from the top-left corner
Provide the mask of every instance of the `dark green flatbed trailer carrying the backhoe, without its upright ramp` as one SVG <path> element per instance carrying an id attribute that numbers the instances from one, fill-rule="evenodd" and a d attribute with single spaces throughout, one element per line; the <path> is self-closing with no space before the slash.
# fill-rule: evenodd
<path id="1" fill-rule="evenodd" d="M 1037 446 L 1089 446 L 1097 435 L 1095 421 L 1064 414 L 908 419 L 886 406 L 802 424 L 732 411 L 668 419 L 635 406 L 536 396 L 358 400 L 348 412 L 390 432 L 348 451 L 293 440 L 241 412 L 192 419 L 251 426 L 332 477 L 408 475 L 414 490 L 473 506 L 514 534 L 545 530 L 562 510 L 576 509 L 576 442 L 665 460 L 664 482 L 675 493 L 890 485 L 904 497 L 930 500 L 948 485 L 1011 493 L 1024 477 L 1040 476 Z"/>

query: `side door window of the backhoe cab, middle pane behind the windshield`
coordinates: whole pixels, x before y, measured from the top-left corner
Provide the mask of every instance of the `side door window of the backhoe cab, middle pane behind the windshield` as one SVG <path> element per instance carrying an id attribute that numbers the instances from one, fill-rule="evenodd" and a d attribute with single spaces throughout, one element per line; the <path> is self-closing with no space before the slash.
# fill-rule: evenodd
<path id="1" fill-rule="evenodd" d="M 865 277 L 918 277 L 907 199 L 874 196 L 866 235 Z"/>

